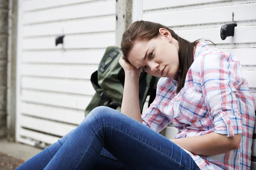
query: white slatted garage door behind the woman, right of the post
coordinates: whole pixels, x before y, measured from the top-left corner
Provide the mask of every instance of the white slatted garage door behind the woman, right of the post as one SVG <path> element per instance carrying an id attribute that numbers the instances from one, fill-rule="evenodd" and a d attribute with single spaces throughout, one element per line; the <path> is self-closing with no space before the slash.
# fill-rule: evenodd
<path id="1" fill-rule="evenodd" d="M 217 48 L 235 55 L 256 99 L 256 0 L 134 0 L 133 5 L 133 21 L 161 23 L 191 42 L 210 39 Z M 227 23 L 237 23 L 234 37 L 221 40 L 220 28 Z M 162 132 L 169 139 L 176 133 L 175 127 Z"/>

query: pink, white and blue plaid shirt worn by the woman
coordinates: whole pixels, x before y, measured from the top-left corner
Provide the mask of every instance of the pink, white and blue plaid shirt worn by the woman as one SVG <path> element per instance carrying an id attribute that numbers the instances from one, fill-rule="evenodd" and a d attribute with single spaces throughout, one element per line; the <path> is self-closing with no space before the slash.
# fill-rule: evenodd
<path id="1" fill-rule="evenodd" d="M 143 124 L 160 132 L 172 123 L 178 129 L 176 139 L 211 132 L 228 137 L 242 133 L 236 150 L 216 156 L 186 152 L 203 170 L 249 170 L 255 109 L 236 57 L 201 41 L 179 93 L 175 92 L 176 83 L 174 79 L 160 78 L 157 96 L 142 115 Z"/>

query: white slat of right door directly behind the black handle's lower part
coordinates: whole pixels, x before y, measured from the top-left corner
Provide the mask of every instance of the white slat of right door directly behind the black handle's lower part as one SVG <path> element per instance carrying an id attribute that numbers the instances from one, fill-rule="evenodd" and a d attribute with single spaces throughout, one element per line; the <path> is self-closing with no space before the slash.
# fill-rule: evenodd
<path id="1" fill-rule="evenodd" d="M 182 30 L 182 31 L 176 31 L 176 33 L 180 37 L 191 42 L 198 40 L 200 38 L 205 38 L 205 39 L 210 39 L 215 44 L 226 44 L 226 43 L 234 44 L 234 43 L 256 42 L 255 30 L 256 30 L 256 26 L 235 27 L 234 37 L 227 37 L 226 40 L 221 40 L 220 28 Z"/>

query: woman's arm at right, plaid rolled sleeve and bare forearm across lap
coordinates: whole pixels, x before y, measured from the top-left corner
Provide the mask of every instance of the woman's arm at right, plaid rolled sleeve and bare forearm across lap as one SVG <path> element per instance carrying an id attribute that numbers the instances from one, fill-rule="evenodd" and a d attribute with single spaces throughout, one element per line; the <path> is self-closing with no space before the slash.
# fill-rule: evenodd
<path id="1" fill-rule="evenodd" d="M 231 54 L 213 51 L 201 59 L 201 87 L 212 133 L 175 139 L 186 150 L 197 155 L 212 156 L 237 149 L 243 133 L 242 117 L 236 92 L 244 82 L 241 65 Z"/>

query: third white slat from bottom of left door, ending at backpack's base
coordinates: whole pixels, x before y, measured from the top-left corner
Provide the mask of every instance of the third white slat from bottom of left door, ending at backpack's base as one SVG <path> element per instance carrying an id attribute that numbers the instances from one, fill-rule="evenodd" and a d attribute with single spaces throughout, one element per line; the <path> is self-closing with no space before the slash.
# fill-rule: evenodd
<path id="1" fill-rule="evenodd" d="M 21 103 L 21 113 L 37 118 L 55 120 L 79 125 L 84 119 L 84 111 L 72 109 L 56 108 L 45 105 L 35 105 L 31 103 Z"/>

